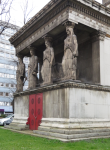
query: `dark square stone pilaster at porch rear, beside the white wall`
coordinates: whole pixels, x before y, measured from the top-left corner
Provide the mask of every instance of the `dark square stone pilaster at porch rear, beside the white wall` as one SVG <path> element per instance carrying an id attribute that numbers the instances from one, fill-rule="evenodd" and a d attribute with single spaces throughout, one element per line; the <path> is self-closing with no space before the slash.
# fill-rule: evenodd
<path id="1" fill-rule="evenodd" d="M 101 42 L 104 41 L 105 33 L 101 31 L 97 31 L 92 34 L 92 80 L 96 84 L 100 84 L 101 74 L 100 74 L 100 49 Z"/>

